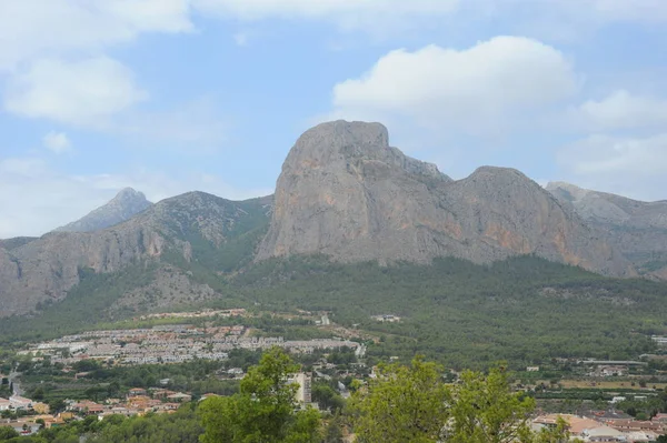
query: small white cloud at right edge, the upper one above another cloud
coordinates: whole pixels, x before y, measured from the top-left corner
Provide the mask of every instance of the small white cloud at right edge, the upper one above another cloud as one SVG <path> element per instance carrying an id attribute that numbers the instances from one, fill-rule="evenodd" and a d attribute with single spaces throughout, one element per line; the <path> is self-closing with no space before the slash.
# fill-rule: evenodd
<path id="1" fill-rule="evenodd" d="M 667 124 L 667 100 L 618 90 L 604 100 L 589 100 L 574 113 L 594 130 L 638 129 Z"/>

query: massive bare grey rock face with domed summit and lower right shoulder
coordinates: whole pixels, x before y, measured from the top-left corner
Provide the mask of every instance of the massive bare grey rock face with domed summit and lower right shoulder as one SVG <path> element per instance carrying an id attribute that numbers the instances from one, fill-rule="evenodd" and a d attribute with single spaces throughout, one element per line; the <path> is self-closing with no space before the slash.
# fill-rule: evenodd
<path id="1" fill-rule="evenodd" d="M 257 260 L 489 263 L 517 254 L 633 275 L 631 265 L 570 208 L 518 171 L 480 168 L 454 181 L 389 147 L 379 123 L 336 121 L 291 149 Z"/>

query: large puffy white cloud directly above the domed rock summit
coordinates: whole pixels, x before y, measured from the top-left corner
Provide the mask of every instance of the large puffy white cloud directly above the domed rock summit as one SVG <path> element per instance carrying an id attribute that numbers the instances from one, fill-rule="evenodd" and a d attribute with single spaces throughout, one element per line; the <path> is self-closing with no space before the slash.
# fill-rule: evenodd
<path id="1" fill-rule="evenodd" d="M 578 81 L 558 50 L 497 37 L 466 50 L 429 46 L 391 51 L 358 79 L 334 88 L 334 114 L 384 120 L 401 115 L 427 127 L 484 132 L 570 97 Z"/>

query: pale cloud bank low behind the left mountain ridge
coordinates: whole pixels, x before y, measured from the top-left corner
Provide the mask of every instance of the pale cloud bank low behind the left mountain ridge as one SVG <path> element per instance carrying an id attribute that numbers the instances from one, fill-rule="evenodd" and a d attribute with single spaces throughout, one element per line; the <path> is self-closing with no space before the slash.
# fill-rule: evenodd
<path id="1" fill-rule="evenodd" d="M 137 169 L 122 174 L 70 175 L 37 157 L 0 159 L 0 239 L 41 235 L 86 215 L 126 187 L 142 191 L 153 202 L 195 190 L 231 200 L 272 192 L 239 189 L 201 173 Z"/>

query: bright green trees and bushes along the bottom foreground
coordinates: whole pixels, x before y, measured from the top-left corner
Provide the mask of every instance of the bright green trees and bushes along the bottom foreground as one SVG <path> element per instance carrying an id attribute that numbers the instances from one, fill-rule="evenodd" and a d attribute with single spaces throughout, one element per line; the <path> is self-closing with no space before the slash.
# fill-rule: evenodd
<path id="1" fill-rule="evenodd" d="M 93 362 L 81 362 L 77 370 L 96 368 Z M 84 437 L 92 443 L 340 443 L 350 432 L 359 443 L 569 441 L 563 421 L 548 431 L 530 430 L 535 400 L 512 391 L 512 376 L 504 365 L 488 372 L 465 371 L 450 384 L 442 366 L 419 356 L 410 366 L 382 363 L 368 384 L 352 383 L 351 401 L 334 415 L 296 407 L 297 386 L 288 376 L 298 370 L 286 353 L 273 348 L 248 370 L 240 392 L 231 396 L 185 404 L 175 414 L 112 415 L 102 421 L 88 416 L 30 437 L 0 427 L 0 442 L 74 443 Z M 665 394 L 660 399 L 667 401 Z M 644 413 L 638 411 L 637 416 Z"/>

